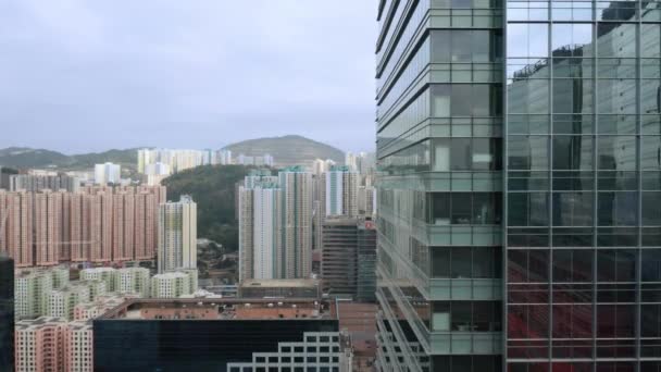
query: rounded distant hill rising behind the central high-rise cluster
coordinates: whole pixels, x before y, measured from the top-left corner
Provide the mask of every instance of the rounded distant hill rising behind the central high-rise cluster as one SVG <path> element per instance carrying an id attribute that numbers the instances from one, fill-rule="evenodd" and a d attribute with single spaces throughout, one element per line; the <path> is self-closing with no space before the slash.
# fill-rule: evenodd
<path id="1" fill-rule="evenodd" d="M 273 156 L 276 166 L 311 165 L 314 159 L 332 159 L 345 163 L 342 150 L 297 135 L 248 139 L 223 149 L 230 150 L 233 158 L 240 153 L 251 157 L 269 153 Z"/>

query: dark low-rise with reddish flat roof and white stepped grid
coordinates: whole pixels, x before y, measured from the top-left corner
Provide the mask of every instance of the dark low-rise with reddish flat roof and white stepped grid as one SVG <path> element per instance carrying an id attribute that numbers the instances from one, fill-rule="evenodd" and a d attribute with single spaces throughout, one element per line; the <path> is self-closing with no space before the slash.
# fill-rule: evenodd
<path id="1" fill-rule="evenodd" d="M 349 371 L 334 301 L 135 299 L 92 323 L 104 372 Z"/>

